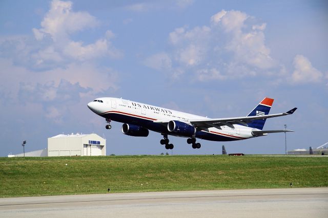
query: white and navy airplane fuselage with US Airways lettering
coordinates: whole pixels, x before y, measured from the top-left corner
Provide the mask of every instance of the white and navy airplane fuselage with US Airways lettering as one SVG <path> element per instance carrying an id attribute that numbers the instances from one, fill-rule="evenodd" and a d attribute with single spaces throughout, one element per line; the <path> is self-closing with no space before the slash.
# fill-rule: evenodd
<path id="1" fill-rule="evenodd" d="M 163 133 L 163 131 L 168 128 L 167 126 L 158 123 L 160 120 L 174 120 L 188 124 L 189 120 L 210 119 L 120 98 L 97 98 L 93 102 L 90 102 L 88 107 L 101 117 L 117 122 L 139 125 L 159 133 Z M 206 130 L 198 130 L 194 137 L 211 141 L 234 141 L 254 137 L 252 135 L 252 130 L 254 130 L 254 128 L 238 124 L 234 124 L 233 127 L 234 128 L 221 126 L 221 129 L 210 127 Z M 166 134 L 179 136 L 177 134 L 171 134 L 168 131 L 166 131 Z"/>

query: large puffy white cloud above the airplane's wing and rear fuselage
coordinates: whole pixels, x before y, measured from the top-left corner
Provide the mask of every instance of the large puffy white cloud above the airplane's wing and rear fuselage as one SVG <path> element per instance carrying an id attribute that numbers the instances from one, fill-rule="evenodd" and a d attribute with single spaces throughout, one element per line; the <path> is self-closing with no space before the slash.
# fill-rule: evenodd
<path id="1" fill-rule="evenodd" d="M 176 28 L 169 33 L 172 51 L 165 52 L 174 66 L 171 76 L 188 72 L 206 81 L 280 72 L 265 45 L 266 27 L 241 11 L 221 10 L 211 16 L 209 26 Z"/>

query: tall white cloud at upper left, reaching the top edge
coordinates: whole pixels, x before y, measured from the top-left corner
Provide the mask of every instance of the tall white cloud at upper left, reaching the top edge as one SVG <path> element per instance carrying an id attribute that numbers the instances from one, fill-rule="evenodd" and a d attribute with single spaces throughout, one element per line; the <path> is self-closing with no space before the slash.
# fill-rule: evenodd
<path id="1" fill-rule="evenodd" d="M 95 28 L 99 21 L 88 12 L 73 11 L 72 2 L 53 0 L 49 11 L 41 22 L 40 29 L 33 28 L 34 37 L 42 42 L 38 50 L 26 50 L 32 57 L 31 66 L 38 69 L 54 68 L 56 64 L 63 66 L 72 61 L 87 61 L 109 56 L 119 58 L 122 52 L 111 45 L 115 34 L 107 30 L 103 38 L 85 45 L 83 41 L 72 40 L 71 34 L 85 29 Z"/>

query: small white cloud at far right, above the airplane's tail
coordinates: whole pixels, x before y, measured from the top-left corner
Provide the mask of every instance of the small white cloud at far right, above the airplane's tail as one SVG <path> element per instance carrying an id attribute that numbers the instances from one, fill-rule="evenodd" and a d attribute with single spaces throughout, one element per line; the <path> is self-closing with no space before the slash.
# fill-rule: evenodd
<path id="1" fill-rule="evenodd" d="M 296 55 L 294 58 L 294 72 L 292 81 L 294 83 L 317 83 L 323 79 L 323 73 L 315 69 L 310 60 L 303 55 Z"/>

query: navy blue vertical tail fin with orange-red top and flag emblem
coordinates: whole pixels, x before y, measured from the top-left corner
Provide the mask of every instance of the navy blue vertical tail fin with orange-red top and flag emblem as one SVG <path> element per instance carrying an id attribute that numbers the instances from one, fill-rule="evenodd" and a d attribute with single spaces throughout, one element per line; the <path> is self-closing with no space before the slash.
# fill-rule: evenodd
<path id="1" fill-rule="evenodd" d="M 264 98 L 247 116 L 249 117 L 249 116 L 268 115 L 273 101 L 274 99 L 272 98 Z M 267 119 L 253 120 L 252 122 L 248 123 L 248 126 L 251 128 L 257 128 L 262 130 L 265 120 Z"/>

